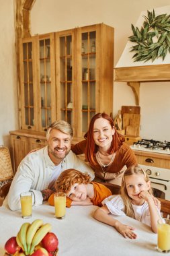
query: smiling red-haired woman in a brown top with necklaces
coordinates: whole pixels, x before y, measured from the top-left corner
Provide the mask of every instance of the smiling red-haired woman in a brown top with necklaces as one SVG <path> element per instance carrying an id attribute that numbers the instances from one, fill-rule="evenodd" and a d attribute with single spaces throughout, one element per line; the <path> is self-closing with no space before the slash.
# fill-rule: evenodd
<path id="1" fill-rule="evenodd" d="M 98 113 L 91 119 L 85 140 L 73 145 L 71 150 L 75 154 L 85 154 L 95 170 L 95 181 L 120 185 L 124 170 L 137 164 L 134 152 L 124 140 L 124 136 L 116 131 L 113 119 Z"/>

